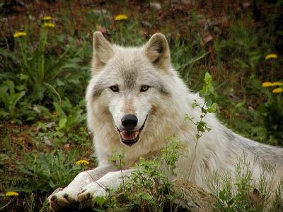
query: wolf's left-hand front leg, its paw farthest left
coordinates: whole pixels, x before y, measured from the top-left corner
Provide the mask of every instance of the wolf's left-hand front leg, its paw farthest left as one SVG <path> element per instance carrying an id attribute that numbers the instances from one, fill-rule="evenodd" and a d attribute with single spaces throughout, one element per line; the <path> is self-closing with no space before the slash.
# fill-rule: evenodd
<path id="1" fill-rule="evenodd" d="M 56 189 L 47 199 L 49 202 L 49 208 L 51 211 L 59 211 L 62 208 L 74 205 L 77 202 L 77 195 L 81 192 L 83 187 L 87 184 L 91 184 L 96 180 L 103 177 L 115 170 L 112 165 L 102 165 L 94 170 L 84 171 L 76 175 L 74 180 L 64 189 Z"/>

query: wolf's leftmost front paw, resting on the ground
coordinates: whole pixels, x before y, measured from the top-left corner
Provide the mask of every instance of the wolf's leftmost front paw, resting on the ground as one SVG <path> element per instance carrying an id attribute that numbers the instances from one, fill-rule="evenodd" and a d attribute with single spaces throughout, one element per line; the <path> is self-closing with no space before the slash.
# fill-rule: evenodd
<path id="1" fill-rule="evenodd" d="M 63 208 L 76 205 L 77 192 L 56 189 L 47 199 L 49 202 L 50 211 L 61 211 Z"/>

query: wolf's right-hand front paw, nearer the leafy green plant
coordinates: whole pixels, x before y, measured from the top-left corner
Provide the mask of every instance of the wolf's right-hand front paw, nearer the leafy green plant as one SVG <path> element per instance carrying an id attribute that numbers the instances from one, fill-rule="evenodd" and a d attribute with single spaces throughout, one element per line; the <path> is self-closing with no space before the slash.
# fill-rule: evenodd
<path id="1" fill-rule="evenodd" d="M 80 208 L 92 208 L 96 203 L 97 196 L 106 196 L 107 192 L 104 187 L 100 186 L 97 182 L 92 182 L 86 187 L 81 189 L 77 199 L 79 201 Z"/>

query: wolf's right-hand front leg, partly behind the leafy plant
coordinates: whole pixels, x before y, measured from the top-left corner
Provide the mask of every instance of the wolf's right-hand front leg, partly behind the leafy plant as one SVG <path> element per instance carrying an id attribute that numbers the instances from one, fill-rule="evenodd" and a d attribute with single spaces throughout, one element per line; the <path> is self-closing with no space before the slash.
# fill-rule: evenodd
<path id="1" fill-rule="evenodd" d="M 106 175 L 86 185 L 78 194 L 80 208 L 92 208 L 96 202 L 97 196 L 106 196 L 107 188 L 117 190 L 121 182 L 127 181 L 133 170 L 121 170 L 116 172 L 108 172 Z"/>

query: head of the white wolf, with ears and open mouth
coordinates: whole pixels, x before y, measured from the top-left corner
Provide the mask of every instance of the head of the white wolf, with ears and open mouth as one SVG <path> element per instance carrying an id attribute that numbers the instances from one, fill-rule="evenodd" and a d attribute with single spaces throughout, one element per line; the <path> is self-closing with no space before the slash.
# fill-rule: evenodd
<path id="1" fill-rule="evenodd" d="M 142 139 L 146 128 L 152 131 L 158 127 L 153 126 L 153 115 L 171 95 L 168 79 L 173 73 L 166 37 L 156 33 L 142 47 L 120 47 L 96 32 L 93 52 L 87 91 L 88 126 L 93 128 L 91 116 L 104 113 L 120 141 L 132 146 Z"/>

